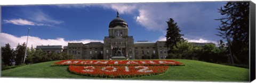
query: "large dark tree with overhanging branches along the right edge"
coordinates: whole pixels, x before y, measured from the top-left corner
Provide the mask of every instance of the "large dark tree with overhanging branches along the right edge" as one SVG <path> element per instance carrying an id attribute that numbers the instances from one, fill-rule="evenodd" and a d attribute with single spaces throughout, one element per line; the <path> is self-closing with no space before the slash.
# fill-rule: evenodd
<path id="1" fill-rule="evenodd" d="M 228 2 L 219 12 L 225 17 L 221 22 L 219 36 L 230 39 L 231 52 L 239 63 L 249 64 L 249 2 Z"/>

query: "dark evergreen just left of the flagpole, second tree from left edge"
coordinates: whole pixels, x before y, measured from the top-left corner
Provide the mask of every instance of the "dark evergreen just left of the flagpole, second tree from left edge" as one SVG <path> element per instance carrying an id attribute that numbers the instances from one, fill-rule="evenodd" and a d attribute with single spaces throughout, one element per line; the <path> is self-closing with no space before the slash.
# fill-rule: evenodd
<path id="1" fill-rule="evenodd" d="M 25 56 L 25 50 L 26 50 L 26 44 L 25 42 L 23 44 L 19 44 L 16 47 L 16 50 L 14 51 L 15 54 L 15 64 L 20 65 L 23 62 L 24 56 Z"/>

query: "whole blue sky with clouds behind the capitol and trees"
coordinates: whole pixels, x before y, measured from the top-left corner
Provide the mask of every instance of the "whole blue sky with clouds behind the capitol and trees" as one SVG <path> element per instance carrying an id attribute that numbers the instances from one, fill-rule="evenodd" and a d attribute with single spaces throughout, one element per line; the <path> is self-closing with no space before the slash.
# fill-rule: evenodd
<path id="1" fill-rule="evenodd" d="M 134 42 L 165 39 L 166 21 L 174 19 L 183 38 L 189 42 L 217 42 L 215 34 L 222 16 L 218 8 L 226 2 L 169 2 L 115 4 L 59 4 L 1 6 L 1 45 L 15 47 L 26 42 L 35 45 L 67 45 L 67 42 L 103 42 L 108 24 L 120 17 L 129 25 Z"/>

